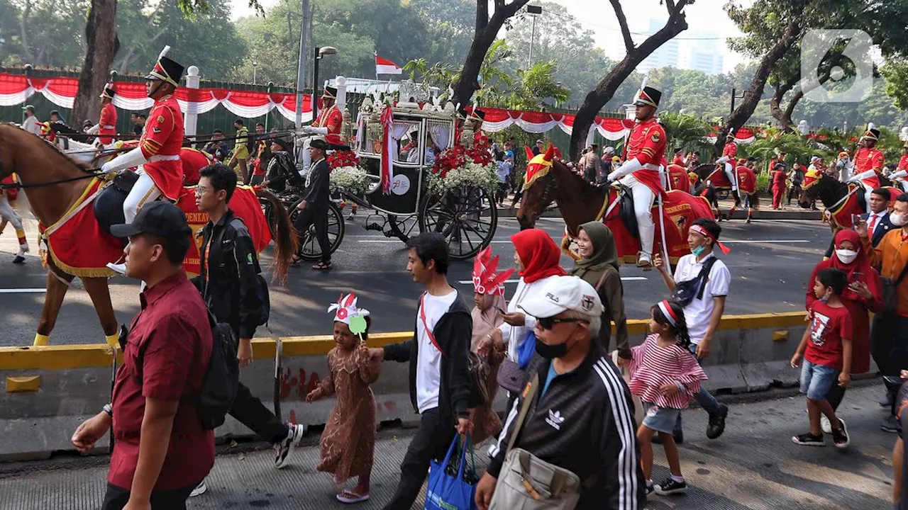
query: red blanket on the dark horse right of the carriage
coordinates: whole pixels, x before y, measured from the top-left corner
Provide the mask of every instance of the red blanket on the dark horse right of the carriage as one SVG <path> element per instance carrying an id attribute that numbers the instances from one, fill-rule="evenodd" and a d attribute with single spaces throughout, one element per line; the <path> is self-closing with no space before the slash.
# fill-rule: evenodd
<path id="1" fill-rule="evenodd" d="M 608 191 L 608 203 L 618 199 L 618 191 L 610 189 Z M 629 202 L 625 202 L 629 204 Z M 624 204 L 622 204 L 624 205 Z M 636 223 L 628 227 L 629 221 L 624 217 L 634 216 L 630 211 L 626 214 L 624 211 L 618 211 L 621 206 L 615 207 L 608 212 L 602 221 L 606 224 L 612 234 L 615 235 L 615 244 L 618 252 L 618 260 L 624 262 L 637 262 L 637 252 L 640 250 L 640 235 L 637 232 Z M 662 221 L 657 217 L 659 209 L 657 204 L 653 204 L 652 215 L 656 222 L 656 235 L 654 238 L 653 251 L 662 253 L 662 226 L 666 226 L 666 244 L 668 247 L 668 257 L 672 262 L 690 253 L 690 247 L 687 245 L 687 230 L 698 218 L 713 218 L 713 211 L 709 207 L 709 202 L 703 197 L 695 197 L 686 191 L 666 191 L 663 202 Z"/>

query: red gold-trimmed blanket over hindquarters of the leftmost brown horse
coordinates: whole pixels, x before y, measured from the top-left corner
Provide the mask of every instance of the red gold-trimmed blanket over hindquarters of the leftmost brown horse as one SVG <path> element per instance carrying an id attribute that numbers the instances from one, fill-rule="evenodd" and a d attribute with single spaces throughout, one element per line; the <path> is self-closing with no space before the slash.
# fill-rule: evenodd
<path id="1" fill-rule="evenodd" d="M 186 220 L 189 221 L 189 227 L 192 229 L 192 240 L 186 258 L 183 259 L 183 269 L 192 275 L 199 274 L 200 255 L 202 249 L 202 227 L 208 222 L 208 215 L 199 211 L 195 206 L 195 187 L 183 187 L 183 193 L 176 202 L 185 214 Z M 256 252 L 261 253 L 271 243 L 271 230 L 268 228 L 268 221 L 262 212 L 262 204 L 259 198 L 255 196 L 255 190 L 251 186 L 236 187 L 233 196 L 230 199 L 230 208 L 239 216 L 249 235 L 252 236 L 252 242 L 255 243 Z"/>

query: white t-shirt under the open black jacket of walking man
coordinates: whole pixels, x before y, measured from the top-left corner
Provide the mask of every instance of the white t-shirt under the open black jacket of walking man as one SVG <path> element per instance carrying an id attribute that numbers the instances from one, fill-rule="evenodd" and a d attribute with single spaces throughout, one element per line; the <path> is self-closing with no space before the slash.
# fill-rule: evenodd
<path id="1" fill-rule="evenodd" d="M 420 413 L 439 407 L 441 383 L 441 352 L 426 334 L 422 313 L 426 314 L 429 330 L 435 329 L 441 316 L 451 308 L 454 299 L 457 299 L 457 290 L 451 290 L 444 296 L 432 296 L 427 292 L 422 299 L 422 310 L 417 310 L 416 341 L 419 342 L 419 357 L 416 359 L 416 405 Z"/>

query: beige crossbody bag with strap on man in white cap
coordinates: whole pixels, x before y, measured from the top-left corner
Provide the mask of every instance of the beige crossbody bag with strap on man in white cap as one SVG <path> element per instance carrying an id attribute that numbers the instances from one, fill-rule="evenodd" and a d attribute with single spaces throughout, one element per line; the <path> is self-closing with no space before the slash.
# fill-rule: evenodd
<path id="1" fill-rule="evenodd" d="M 568 469 L 514 447 L 538 386 L 537 374 L 525 389 L 489 510 L 573 510 L 580 500 L 581 486 L 596 484 L 595 477 L 587 480 L 587 484 L 581 484 L 580 477 Z"/>

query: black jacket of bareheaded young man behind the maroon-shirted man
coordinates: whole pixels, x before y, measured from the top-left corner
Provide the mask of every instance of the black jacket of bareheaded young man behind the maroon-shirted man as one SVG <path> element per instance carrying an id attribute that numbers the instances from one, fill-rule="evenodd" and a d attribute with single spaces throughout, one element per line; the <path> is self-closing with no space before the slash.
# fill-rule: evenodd
<path id="1" fill-rule="evenodd" d="M 218 322 L 230 324 L 237 338 L 252 338 L 263 304 L 259 258 L 249 230 L 228 210 L 220 221 L 209 221 L 196 235 L 202 235 L 201 270 L 192 283 Z"/>

